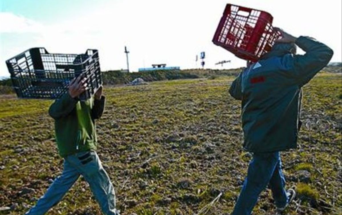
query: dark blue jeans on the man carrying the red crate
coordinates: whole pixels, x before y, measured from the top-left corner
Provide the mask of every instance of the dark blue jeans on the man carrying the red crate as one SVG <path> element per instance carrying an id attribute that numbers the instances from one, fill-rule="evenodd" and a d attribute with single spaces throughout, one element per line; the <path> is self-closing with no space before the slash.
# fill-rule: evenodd
<path id="1" fill-rule="evenodd" d="M 288 197 L 285 190 L 285 178 L 281 172 L 280 153 L 254 153 L 232 215 L 250 215 L 259 194 L 268 184 L 276 206 L 284 207 L 288 202 Z"/>

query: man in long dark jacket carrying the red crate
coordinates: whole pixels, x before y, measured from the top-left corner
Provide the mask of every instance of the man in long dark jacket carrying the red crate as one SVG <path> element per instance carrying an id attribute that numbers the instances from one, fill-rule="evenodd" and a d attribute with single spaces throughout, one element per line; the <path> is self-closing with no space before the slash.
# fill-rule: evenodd
<path id="1" fill-rule="evenodd" d="M 278 212 L 294 199 L 295 191 L 285 190 L 280 151 L 297 148 L 301 88 L 333 55 L 323 43 L 278 30 L 282 38 L 257 63 L 242 71 L 229 89 L 235 99 L 242 101 L 244 149 L 253 152 L 232 215 L 250 215 L 267 185 Z M 295 55 L 296 45 L 305 55 Z"/>

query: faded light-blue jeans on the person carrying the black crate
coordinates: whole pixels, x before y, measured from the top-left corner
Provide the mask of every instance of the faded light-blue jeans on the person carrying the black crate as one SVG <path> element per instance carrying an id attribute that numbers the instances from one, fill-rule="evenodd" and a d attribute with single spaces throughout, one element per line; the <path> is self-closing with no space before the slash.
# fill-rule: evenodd
<path id="1" fill-rule="evenodd" d="M 110 179 L 103 169 L 95 151 L 84 151 L 64 158 L 64 170 L 51 184 L 47 192 L 26 215 L 45 214 L 63 198 L 64 194 L 82 175 L 89 183 L 90 189 L 101 210 L 106 215 L 117 215 L 115 191 Z"/>

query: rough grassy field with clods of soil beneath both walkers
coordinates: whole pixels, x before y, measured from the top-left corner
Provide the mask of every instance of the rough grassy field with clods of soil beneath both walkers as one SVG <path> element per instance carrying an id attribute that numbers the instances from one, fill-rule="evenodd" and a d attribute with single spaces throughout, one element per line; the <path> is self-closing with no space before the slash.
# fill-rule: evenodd
<path id="1" fill-rule="evenodd" d="M 116 187 L 122 214 L 229 214 L 251 155 L 242 150 L 234 77 L 105 88 L 97 121 L 98 155 Z M 341 214 L 341 74 L 320 73 L 304 87 L 299 148 L 282 152 L 287 187 L 299 198 L 285 214 Z M 23 214 L 62 172 L 51 101 L 0 96 L 0 207 Z M 1 213 L 1 212 L 0 212 Z M 101 214 L 80 178 L 48 214 Z M 203 213 L 201 213 L 203 214 Z M 262 192 L 254 213 L 275 214 Z"/>

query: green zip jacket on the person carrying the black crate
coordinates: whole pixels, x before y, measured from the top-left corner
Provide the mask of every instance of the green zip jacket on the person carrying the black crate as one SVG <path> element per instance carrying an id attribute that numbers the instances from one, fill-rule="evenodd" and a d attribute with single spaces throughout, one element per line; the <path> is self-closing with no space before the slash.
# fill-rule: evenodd
<path id="1" fill-rule="evenodd" d="M 95 119 L 102 116 L 105 97 L 82 102 L 69 93 L 50 106 L 49 115 L 55 120 L 58 151 L 62 157 L 80 151 L 96 150 Z"/>

